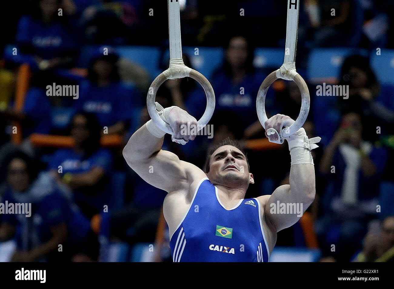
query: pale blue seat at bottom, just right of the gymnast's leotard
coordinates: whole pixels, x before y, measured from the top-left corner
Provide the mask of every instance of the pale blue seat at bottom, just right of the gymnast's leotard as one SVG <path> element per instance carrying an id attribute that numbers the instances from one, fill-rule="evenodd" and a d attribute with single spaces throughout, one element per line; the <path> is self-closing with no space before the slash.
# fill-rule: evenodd
<path id="1" fill-rule="evenodd" d="M 269 257 L 270 262 L 317 262 L 322 256 L 319 249 L 297 247 L 275 247 Z"/>

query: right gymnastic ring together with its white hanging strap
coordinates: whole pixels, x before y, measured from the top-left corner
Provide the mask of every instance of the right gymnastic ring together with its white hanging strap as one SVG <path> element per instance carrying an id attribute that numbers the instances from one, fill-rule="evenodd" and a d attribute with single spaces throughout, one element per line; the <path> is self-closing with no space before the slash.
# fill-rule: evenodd
<path id="1" fill-rule="evenodd" d="M 297 32 L 298 32 L 298 14 L 299 14 L 299 0 L 288 0 L 287 7 L 287 28 L 286 28 L 286 49 L 284 53 L 284 62 L 282 66 L 271 72 L 266 79 L 264 79 L 263 83 L 260 86 L 260 89 L 257 93 L 256 99 L 256 108 L 257 108 L 257 116 L 258 120 L 262 124 L 265 129 L 265 122 L 268 120 L 266 109 L 265 109 L 265 100 L 268 88 L 271 84 L 281 78 L 285 80 L 292 80 L 297 84 L 298 89 L 301 92 L 301 110 L 296 119 L 296 121 L 286 127 L 281 129 L 279 133 L 273 129 L 267 129 L 266 132 L 268 135 L 277 134 L 278 139 L 275 141 L 270 141 L 276 144 L 283 144 L 284 137 L 290 136 L 298 131 L 305 120 L 308 117 L 309 106 L 310 106 L 310 98 L 309 98 L 309 90 L 307 84 L 304 79 L 296 72 L 296 50 L 297 50 Z"/>

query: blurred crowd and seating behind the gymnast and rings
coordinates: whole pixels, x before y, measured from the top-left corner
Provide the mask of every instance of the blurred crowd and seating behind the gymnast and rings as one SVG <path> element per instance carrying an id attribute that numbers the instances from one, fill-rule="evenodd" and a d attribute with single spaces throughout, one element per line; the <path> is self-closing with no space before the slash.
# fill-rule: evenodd
<path id="1" fill-rule="evenodd" d="M 167 134 L 163 149 L 203 168 L 214 143 L 241 140 L 255 177 L 245 197 L 271 194 L 288 184 L 290 155 L 265 139 L 256 95 L 283 62 L 287 1 L 179 1 L 184 62 L 214 87 L 214 134 L 184 146 Z M 32 217 L 0 215 L 0 260 L 171 261 L 166 193 L 122 156 L 149 120 L 149 85 L 168 67 L 167 1 L 1 6 L 0 202 L 32 203 Z M 322 137 L 312 151 L 316 199 L 278 233 L 271 260 L 392 261 L 394 1 L 300 6 L 297 71 L 311 98 L 304 128 Z M 54 83 L 78 85 L 78 99 L 49 94 Z M 318 96 L 323 83 L 347 85 L 348 98 Z M 295 83 L 278 80 L 267 114 L 295 119 L 300 100 Z M 206 104 L 189 78 L 166 81 L 156 101 L 197 119 Z"/>

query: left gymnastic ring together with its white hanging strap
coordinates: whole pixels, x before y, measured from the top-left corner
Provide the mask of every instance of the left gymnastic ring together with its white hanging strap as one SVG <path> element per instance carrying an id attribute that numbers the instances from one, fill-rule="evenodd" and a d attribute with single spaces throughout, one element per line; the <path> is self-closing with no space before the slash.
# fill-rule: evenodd
<path id="1" fill-rule="evenodd" d="M 208 79 L 198 71 L 184 65 L 182 59 L 182 44 L 180 40 L 180 15 L 179 15 L 179 2 L 168 0 L 168 30 L 169 30 L 169 48 L 170 48 L 170 63 L 169 68 L 159 74 L 149 87 L 147 96 L 147 108 L 149 116 L 151 116 L 154 124 L 165 131 L 166 133 L 173 134 L 173 130 L 164 120 L 160 118 L 155 106 L 156 92 L 160 85 L 167 79 L 177 79 L 182 77 L 191 77 L 195 79 L 204 89 L 206 95 L 206 109 L 197 122 L 198 131 L 203 129 L 208 121 L 211 119 L 215 109 L 215 93 L 212 85 Z"/>

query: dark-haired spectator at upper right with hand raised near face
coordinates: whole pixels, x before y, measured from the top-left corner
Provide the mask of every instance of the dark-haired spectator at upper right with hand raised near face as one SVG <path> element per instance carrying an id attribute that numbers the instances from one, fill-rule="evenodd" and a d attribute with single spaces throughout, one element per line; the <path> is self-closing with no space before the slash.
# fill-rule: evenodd
<path id="1" fill-rule="evenodd" d="M 394 87 L 377 81 L 368 59 L 361 55 L 347 57 L 342 64 L 339 85 L 346 86 L 348 98 L 313 98 L 314 123 L 323 144 L 327 145 L 332 138 L 341 111 L 353 110 L 365 116 L 362 124 L 366 140 L 375 141 L 381 135 L 394 133 Z M 380 134 L 377 133 L 377 127 L 380 127 Z"/>

